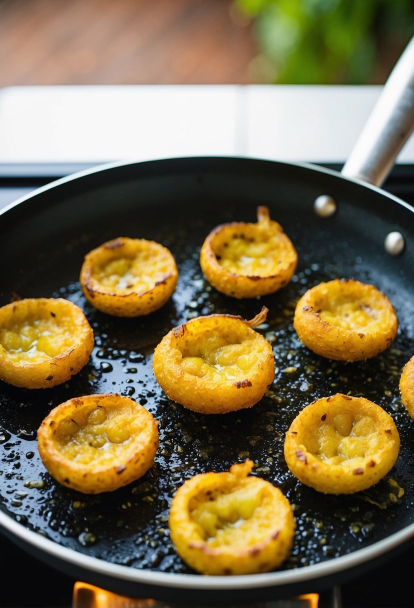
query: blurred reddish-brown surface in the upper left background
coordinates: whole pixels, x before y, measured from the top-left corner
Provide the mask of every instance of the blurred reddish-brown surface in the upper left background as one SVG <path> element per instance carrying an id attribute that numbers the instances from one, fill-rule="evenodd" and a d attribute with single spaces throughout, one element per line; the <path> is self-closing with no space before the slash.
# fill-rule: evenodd
<path id="1" fill-rule="evenodd" d="M 0 0 L 0 86 L 246 84 L 231 0 Z"/>

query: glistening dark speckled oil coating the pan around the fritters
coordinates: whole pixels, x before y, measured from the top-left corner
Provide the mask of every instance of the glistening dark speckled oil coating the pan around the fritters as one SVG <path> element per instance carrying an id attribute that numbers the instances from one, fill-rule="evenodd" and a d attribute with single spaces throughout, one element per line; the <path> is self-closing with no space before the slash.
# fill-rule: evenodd
<path id="1" fill-rule="evenodd" d="M 254 218 L 247 219 L 240 211 L 237 219 Z M 342 243 L 334 262 L 327 264 L 326 252 L 324 261 L 318 260 L 321 247 L 319 251 L 304 249 L 299 232 L 292 230 L 288 234 L 297 246 L 299 265 L 291 283 L 262 299 L 229 299 L 211 288 L 200 271 L 200 246 L 214 226 L 211 219 L 204 218 L 187 226 L 180 224 L 175 232 L 165 227 L 151 235 L 136 226 L 128 234 L 106 228 L 99 237 L 86 235 L 73 244 L 70 255 L 77 254 L 78 261 L 62 272 L 63 283 L 54 283 L 42 295 L 67 297 L 80 305 L 95 332 L 95 348 L 89 364 L 59 387 L 30 391 L 1 385 L 2 510 L 27 528 L 80 553 L 134 568 L 189 573 L 192 571 L 178 558 L 169 539 L 169 505 L 175 490 L 196 473 L 225 471 L 233 463 L 251 458 L 255 474 L 279 486 L 294 506 L 294 547 L 281 569 L 350 553 L 405 527 L 412 521 L 414 446 L 398 381 L 413 354 L 409 335 L 412 298 L 393 291 L 392 282 L 364 266 L 350 244 Z M 177 260 L 177 290 L 163 309 L 149 317 L 105 316 L 81 292 L 79 260 L 93 246 L 118 236 L 154 238 L 169 247 Z M 34 285 L 39 291 L 44 272 L 32 268 L 18 295 L 32 296 Z M 399 331 L 385 353 L 347 364 L 323 359 L 300 344 L 292 326 L 297 300 L 310 286 L 336 277 L 372 282 L 389 295 L 399 317 Z M 169 401 L 151 366 L 161 337 L 172 326 L 199 315 L 229 313 L 251 319 L 262 305 L 269 313 L 258 331 L 273 345 L 276 359 L 274 382 L 262 401 L 249 410 L 216 416 L 199 415 Z M 109 494 L 86 496 L 59 486 L 47 474 L 38 455 L 36 429 L 60 402 L 100 392 L 131 396 L 152 412 L 159 423 L 160 446 L 154 466 L 137 482 Z M 285 432 L 297 413 L 314 399 L 336 392 L 364 395 L 378 403 L 393 416 L 401 436 L 398 462 L 389 475 L 365 492 L 339 497 L 324 496 L 297 482 L 283 458 Z"/>

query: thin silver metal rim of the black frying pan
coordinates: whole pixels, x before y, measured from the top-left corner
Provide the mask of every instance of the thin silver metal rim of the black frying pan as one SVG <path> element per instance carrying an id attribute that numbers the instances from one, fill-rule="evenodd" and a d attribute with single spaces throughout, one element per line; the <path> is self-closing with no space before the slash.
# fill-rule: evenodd
<path id="1" fill-rule="evenodd" d="M 32 192 L 27 195 L 22 196 L 21 198 L 16 199 L 11 202 L 7 206 L 0 209 L 0 221 L 1 216 L 4 213 L 12 210 L 14 207 L 24 204 L 25 201 L 29 201 L 30 199 L 36 198 L 42 193 L 47 192 L 56 187 L 64 186 L 65 184 L 71 183 L 73 181 L 82 181 L 82 178 L 87 178 L 87 176 L 91 176 L 97 173 L 107 173 L 110 170 L 116 170 L 117 168 L 123 167 L 131 167 L 134 165 L 139 165 L 143 167 L 150 168 L 152 165 L 157 164 L 174 164 L 177 163 L 177 167 L 180 166 L 180 163 L 188 163 L 187 169 L 191 171 L 192 163 L 200 163 L 200 162 L 221 162 L 221 161 L 240 161 L 240 162 L 249 162 L 256 161 L 261 164 L 265 163 L 268 165 L 279 165 L 279 166 L 288 166 L 294 168 L 302 168 L 312 171 L 313 173 L 317 172 L 319 174 L 327 174 L 333 176 L 334 178 L 340 179 L 341 181 L 350 182 L 360 187 L 368 188 L 373 192 L 378 193 L 379 195 L 385 196 L 390 201 L 394 201 L 400 206 L 407 209 L 410 213 L 414 213 L 414 208 L 408 204 L 406 201 L 398 198 L 395 195 L 383 190 L 380 187 L 377 187 L 372 184 L 368 184 L 359 179 L 352 179 L 345 176 L 342 176 L 339 171 L 335 171 L 333 169 L 321 167 L 319 165 L 314 165 L 312 163 L 293 163 L 293 162 L 285 162 L 285 161 L 274 161 L 273 159 L 266 159 L 260 157 L 249 157 L 249 156 L 176 156 L 176 157 L 165 157 L 160 159 L 151 159 L 148 161 L 114 161 L 104 164 L 95 165 L 95 167 L 89 167 L 87 169 L 76 171 L 76 173 L 72 173 L 64 178 L 59 178 L 49 182 L 46 185 L 43 185 L 39 188 L 36 188 Z M 184 167 L 184 165 L 181 165 Z M 140 175 L 143 175 L 141 173 Z M 137 176 L 139 178 L 139 175 Z M 297 584 L 299 582 L 308 582 L 313 581 L 314 579 L 321 577 L 329 577 L 335 575 L 336 573 L 344 572 L 344 570 L 351 570 L 352 568 L 358 567 L 359 565 L 365 564 L 365 562 L 373 561 L 375 558 L 379 558 L 385 553 L 403 545 L 410 539 L 414 537 L 414 522 L 410 525 L 406 526 L 402 530 L 388 536 L 382 541 L 378 541 L 372 545 L 368 545 L 368 547 L 364 547 L 353 551 L 352 553 L 340 556 L 338 558 L 330 559 L 324 562 L 319 562 L 318 564 L 293 568 L 291 570 L 276 570 L 273 572 L 256 574 L 256 575 L 233 575 L 233 576 L 208 576 L 205 577 L 203 575 L 199 575 L 197 573 L 194 574 L 183 574 L 183 573 L 171 573 L 171 572 L 155 572 L 152 570 L 144 570 L 141 568 L 129 567 L 121 564 L 112 564 L 110 562 L 106 562 L 95 558 L 93 556 L 88 556 L 86 554 L 77 551 L 76 549 L 64 547 L 63 545 L 58 544 L 51 539 L 40 536 L 35 531 L 29 530 L 24 527 L 21 523 L 12 519 L 12 517 L 8 516 L 7 513 L 0 510 L 0 528 L 8 531 L 12 535 L 12 541 L 16 542 L 15 539 L 20 539 L 24 545 L 30 545 L 33 550 L 41 551 L 42 554 L 47 554 L 50 558 L 56 558 L 61 562 L 65 562 L 67 564 L 72 564 L 75 566 L 81 566 L 86 568 L 89 572 L 100 573 L 104 576 L 109 576 L 110 578 L 114 578 L 117 576 L 118 579 L 123 579 L 124 581 L 129 581 L 135 584 L 141 584 L 143 586 L 158 586 L 165 588 L 174 588 L 174 589 L 188 589 L 188 590 L 205 590 L 205 589 L 214 589 L 214 590 L 239 590 L 239 589 L 252 589 L 254 588 L 265 588 L 265 587 L 278 587 L 278 586 L 286 586 L 290 584 Z"/>

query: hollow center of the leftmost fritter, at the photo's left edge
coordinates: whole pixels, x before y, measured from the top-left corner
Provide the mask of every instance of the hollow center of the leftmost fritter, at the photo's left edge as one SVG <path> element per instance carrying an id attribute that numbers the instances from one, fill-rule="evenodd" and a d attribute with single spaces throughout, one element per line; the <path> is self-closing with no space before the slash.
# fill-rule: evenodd
<path id="1" fill-rule="evenodd" d="M 0 344 L 15 362 L 47 361 L 68 350 L 75 342 L 76 325 L 71 317 L 56 320 L 26 319 L 0 330 Z"/>

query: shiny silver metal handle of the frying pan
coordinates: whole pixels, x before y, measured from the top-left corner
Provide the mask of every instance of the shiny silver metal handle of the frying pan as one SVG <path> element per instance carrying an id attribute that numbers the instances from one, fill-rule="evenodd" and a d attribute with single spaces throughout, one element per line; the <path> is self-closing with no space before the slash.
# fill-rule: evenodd
<path id="1" fill-rule="evenodd" d="M 414 37 L 382 89 L 341 174 L 381 186 L 414 130 Z"/>

